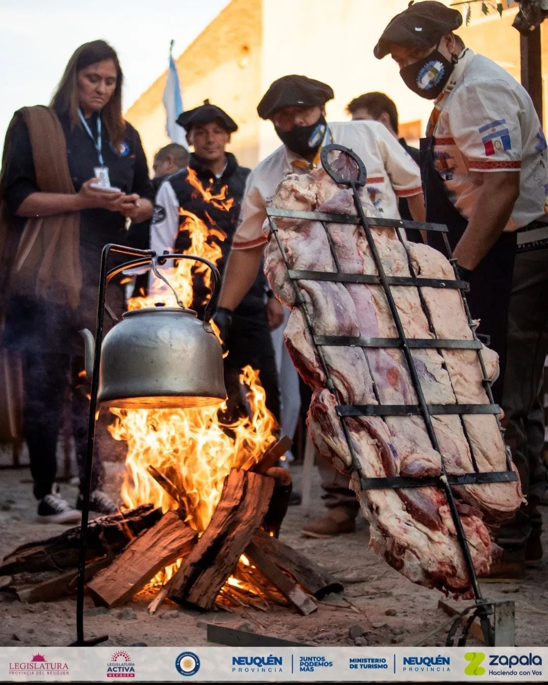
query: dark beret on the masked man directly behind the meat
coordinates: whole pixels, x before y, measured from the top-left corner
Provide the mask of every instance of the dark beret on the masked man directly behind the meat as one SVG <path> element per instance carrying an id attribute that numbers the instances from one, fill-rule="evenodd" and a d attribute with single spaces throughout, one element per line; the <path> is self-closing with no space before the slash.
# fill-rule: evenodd
<path id="1" fill-rule="evenodd" d="M 327 84 L 308 76 L 290 74 L 271 84 L 257 105 L 257 112 L 261 119 L 271 119 L 275 112 L 284 107 L 325 105 L 327 100 L 334 97 L 333 89 Z"/>

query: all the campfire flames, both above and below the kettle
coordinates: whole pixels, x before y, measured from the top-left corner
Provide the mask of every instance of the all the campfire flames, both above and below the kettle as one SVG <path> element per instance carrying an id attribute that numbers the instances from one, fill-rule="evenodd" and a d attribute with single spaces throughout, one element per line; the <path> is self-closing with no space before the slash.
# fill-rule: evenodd
<path id="1" fill-rule="evenodd" d="M 213 195 L 199 184 L 192 169 L 188 170 L 188 181 L 215 208 L 228 211 L 232 207 L 234 201 L 227 199 L 226 186 Z M 213 222 L 207 226 L 195 214 L 183 209 L 179 213 L 186 217 L 183 226 L 190 237 L 188 253 L 216 263 L 222 253 L 217 241 L 211 238 L 224 240 L 226 234 Z M 169 271 L 169 282 L 185 307 L 192 303 L 192 277 L 196 273 L 201 273 L 203 282 L 210 287 L 210 270 L 199 262 L 178 260 Z M 155 279 L 150 294 L 130 299 L 128 309 L 150 307 L 155 301 L 163 301 L 167 306 L 177 305 L 171 289 Z M 109 431 L 115 440 L 127 443 L 126 472 L 121 488 L 121 497 L 127 507 L 153 503 L 163 512 L 180 507 L 192 528 L 199 534 L 206 530 L 229 471 L 232 468 L 249 469 L 275 440 L 276 422 L 266 409 L 266 394 L 258 371 L 245 366 L 240 383 L 248 413 L 232 423 L 223 418 L 226 403 L 220 408 L 110 409 L 116 420 Z M 149 466 L 160 472 L 167 490 L 152 477 L 147 470 Z M 153 582 L 169 580 L 180 562 L 164 569 Z M 245 556 L 240 563 L 253 568 Z M 240 583 L 231 578 L 230 584 Z"/>

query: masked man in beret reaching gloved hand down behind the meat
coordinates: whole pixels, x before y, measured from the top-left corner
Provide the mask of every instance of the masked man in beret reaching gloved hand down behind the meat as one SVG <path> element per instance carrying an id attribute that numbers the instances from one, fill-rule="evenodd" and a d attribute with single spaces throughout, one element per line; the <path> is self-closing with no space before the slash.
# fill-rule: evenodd
<path id="1" fill-rule="evenodd" d="M 267 204 L 286 174 L 308 173 L 319 164 L 323 145 L 345 145 L 362 158 L 370 196 L 384 216 L 399 219 L 398 198 L 407 197 L 414 219 L 424 219 L 419 167 L 382 123 L 328 124 L 325 103 L 333 97 L 333 90 L 327 84 L 306 76 L 289 75 L 273 82 L 258 105 L 258 114 L 272 121 L 283 145 L 262 160 L 247 179 L 240 224 L 232 242 L 215 317 L 225 334 L 232 312 L 260 269 L 268 240 L 263 233 Z M 303 534 L 328 537 L 353 530 L 359 503 L 348 489 L 348 477 L 326 460 L 321 465 L 321 477 L 327 513 L 308 523 Z"/>

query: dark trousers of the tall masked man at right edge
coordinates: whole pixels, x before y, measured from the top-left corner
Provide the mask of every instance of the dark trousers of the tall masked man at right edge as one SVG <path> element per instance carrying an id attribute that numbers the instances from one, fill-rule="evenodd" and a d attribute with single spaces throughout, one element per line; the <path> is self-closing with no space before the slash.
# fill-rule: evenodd
<path id="1" fill-rule="evenodd" d="M 519 471 L 527 504 L 498 534 L 504 545 L 538 537 L 537 505 L 547 486 L 542 459 L 544 417 L 539 393 L 548 353 L 548 247 L 518 251 L 508 311 L 508 347 L 501 405 L 506 443 Z"/>

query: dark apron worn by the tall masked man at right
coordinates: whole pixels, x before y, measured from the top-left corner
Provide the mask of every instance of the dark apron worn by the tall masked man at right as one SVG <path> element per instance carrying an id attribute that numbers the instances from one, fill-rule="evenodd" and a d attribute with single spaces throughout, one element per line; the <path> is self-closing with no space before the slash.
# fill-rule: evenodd
<path id="1" fill-rule="evenodd" d="M 468 220 L 456 209 L 447 192 L 445 182 L 434 165 L 434 138 L 421 139 L 421 176 L 425 194 L 426 221 L 447 225 L 451 251 L 466 230 Z M 442 234 L 428 232 L 428 245 L 447 256 Z M 512 273 L 516 254 L 516 234 L 503 233 L 479 262 L 470 277 L 470 291 L 466 301 L 473 319 L 481 319 L 477 336 L 489 336 L 489 346 L 499 354 L 500 373 L 491 387 L 495 403 L 500 403 L 506 366 L 506 330 L 508 305 L 512 290 Z"/>

